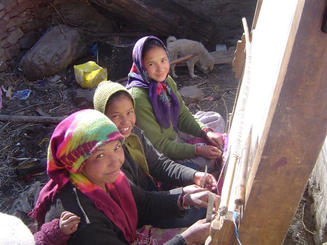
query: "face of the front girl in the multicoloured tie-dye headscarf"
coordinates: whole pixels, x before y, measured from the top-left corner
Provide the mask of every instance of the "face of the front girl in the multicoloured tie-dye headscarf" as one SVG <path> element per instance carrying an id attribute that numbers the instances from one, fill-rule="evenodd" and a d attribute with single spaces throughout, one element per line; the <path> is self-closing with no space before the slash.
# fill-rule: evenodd
<path id="1" fill-rule="evenodd" d="M 121 141 L 114 140 L 99 147 L 87 160 L 81 173 L 92 183 L 106 190 L 105 183 L 116 181 L 124 160 Z"/>

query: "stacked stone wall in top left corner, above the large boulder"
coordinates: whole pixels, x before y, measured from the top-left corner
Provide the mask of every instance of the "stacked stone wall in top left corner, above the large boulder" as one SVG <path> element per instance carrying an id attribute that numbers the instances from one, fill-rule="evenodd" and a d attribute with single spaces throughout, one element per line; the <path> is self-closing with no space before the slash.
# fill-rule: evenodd
<path id="1" fill-rule="evenodd" d="M 14 68 L 43 33 L 63 20 L 73 27 L 112 32 L 112 20 L 84 0 L 0 0 L 0 74 Z M 59 14 L 58 14 L 59 13 Z"/>

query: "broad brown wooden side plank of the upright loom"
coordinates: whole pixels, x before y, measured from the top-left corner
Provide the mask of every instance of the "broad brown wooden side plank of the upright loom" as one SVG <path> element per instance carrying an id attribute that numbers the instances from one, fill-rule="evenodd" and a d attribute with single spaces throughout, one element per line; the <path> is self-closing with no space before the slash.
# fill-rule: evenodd
<path id="1" fill-rule="evenodd" d="M 325 7 L 297 2 L 247 183 L 242 244 L 282 244 L 326 136 Z"/>

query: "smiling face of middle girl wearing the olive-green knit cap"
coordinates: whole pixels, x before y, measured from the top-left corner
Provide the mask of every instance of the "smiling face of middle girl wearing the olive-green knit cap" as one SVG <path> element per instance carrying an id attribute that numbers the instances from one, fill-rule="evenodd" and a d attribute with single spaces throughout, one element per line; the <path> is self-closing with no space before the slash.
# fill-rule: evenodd
<path id="1" fill-rule="evenodd" d="M 119 132 L 127 138 L 131 134 L 136 121 L 132 100 L 121 94 L 113 98 L 106 108 L 106 116 L 115 124 Z"/>

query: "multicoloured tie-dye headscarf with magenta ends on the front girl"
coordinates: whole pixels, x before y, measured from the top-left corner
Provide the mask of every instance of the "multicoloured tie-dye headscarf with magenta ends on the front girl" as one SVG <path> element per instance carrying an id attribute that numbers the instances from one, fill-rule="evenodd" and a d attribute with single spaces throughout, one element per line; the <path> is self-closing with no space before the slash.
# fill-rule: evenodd
<path id="1" fill-rule="evenodd" d="M 48 150 L 50 181 L 42 188 L 34 210 L 29 214 L 44 223 L 48 205 L 69 181 L 91 199 L 123 233 L 128 243 L 135 240 L 137 210 L 130 185 L 122 171 L 114 183 L 106 184 L 110 196 L 81 174 L 87 159 L 104 144 L 122 136 L 113 122 L 96 110 L 76 112 L 56 127 Z"/>

